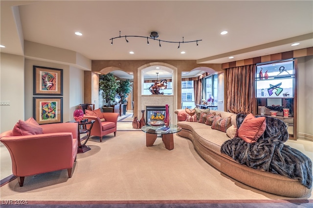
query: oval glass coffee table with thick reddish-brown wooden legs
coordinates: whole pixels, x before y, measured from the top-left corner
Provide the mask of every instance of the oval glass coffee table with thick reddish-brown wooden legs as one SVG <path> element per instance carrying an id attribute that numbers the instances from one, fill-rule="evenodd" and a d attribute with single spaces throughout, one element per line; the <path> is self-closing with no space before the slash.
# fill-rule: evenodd
<path id="1" fill-rule="evenodd" d="M 165 148 L 167 150 L 173 150 L 174 149 L 173 133 L 180 132 L 181 128 L 177 125 L 170 125 L 170 130 L 167 132 L 158 132 L 156 131 L 157 128 L 159 128 L 159 126 L 146 125 L 141 127 L 141 131 L 146 132 L 146 146 L 147 147 L 153 146 L 153 144 L 156 141 L 157 135 L 161 135 Z"/>

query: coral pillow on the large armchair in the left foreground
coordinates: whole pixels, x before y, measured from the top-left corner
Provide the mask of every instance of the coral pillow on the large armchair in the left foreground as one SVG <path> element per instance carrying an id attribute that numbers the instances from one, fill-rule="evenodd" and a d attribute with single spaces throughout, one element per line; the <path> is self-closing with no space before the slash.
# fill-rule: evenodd
<path id="1" fill-rule="evenodd" d="M 42 134 L 43 128 L 37 123 L 37 121 L 30 117 L 26 121 L 19 120 L 12 130 L 13 136 L 25 136 Z"/>

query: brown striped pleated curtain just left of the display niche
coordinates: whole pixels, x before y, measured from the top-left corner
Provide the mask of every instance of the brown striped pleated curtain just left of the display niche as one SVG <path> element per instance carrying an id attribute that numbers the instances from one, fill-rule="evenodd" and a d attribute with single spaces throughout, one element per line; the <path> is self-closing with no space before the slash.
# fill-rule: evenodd
<path id="1" fill-rule="evenodd" d="M 227 111 L 248 114 L 253 111 L 255 64 L 227 69 Z"/>

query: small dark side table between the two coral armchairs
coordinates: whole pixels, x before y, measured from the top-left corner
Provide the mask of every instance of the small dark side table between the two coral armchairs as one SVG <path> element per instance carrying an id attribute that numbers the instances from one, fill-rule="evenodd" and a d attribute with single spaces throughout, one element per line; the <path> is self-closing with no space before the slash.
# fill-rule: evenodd
<path id="1" fill-rule="evenodd" d="M 88 121 L 80 121 L 80 122 L 77 122 L 77 121 L 67 121 L 67 123 L 78 123 L 78 149 L 77 149 L 77 153 L 84 153 L 86 151 L 89 151 L 90 148 L 86 145 L 88 139 L 89 139 L 89 136 L 90 136 L 90 130 L 93 126 L 93 123 L 95 122 L 95 120 L 88 120 Z M 87 126 L 86 124 L 90 124 L 90 127 L 89 129 L 87 129 Z M 80 134 L 82 133 L 87 133 L 86 136 L 84 136 L 83 138 L 80 138 Z M 85 142 L 82 144 L 81 143 L 81 139 L 85 139 Z"/>

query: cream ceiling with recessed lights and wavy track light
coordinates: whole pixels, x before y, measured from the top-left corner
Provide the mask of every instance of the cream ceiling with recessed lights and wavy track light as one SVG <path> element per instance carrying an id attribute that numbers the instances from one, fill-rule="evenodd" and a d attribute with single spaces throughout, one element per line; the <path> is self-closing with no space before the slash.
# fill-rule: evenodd
<path id="1" fill-rule="evenodd" d="M 313 47 L 312 0 L 1 0 L 1 52 L 23 55 L 21 39 L 91 60 L 226 63 Z M 79 31 L 83 35 L 76 36 Z M 121 31 L 121 32 L 119 32 Z M 160 42 L 147 38 L 198 41 Z M 222 31 L 228 31 L 221 35 Z M 120 34 L 119 34 L 120 33 Z M 300 43 L 291 46 L 292 43 Z M 129 52 L 133 51 L 134 54 Z M 180 54 L 184 51 L 185 54 Z M 229 59 L 228 57 L 234 58 Z"/>

